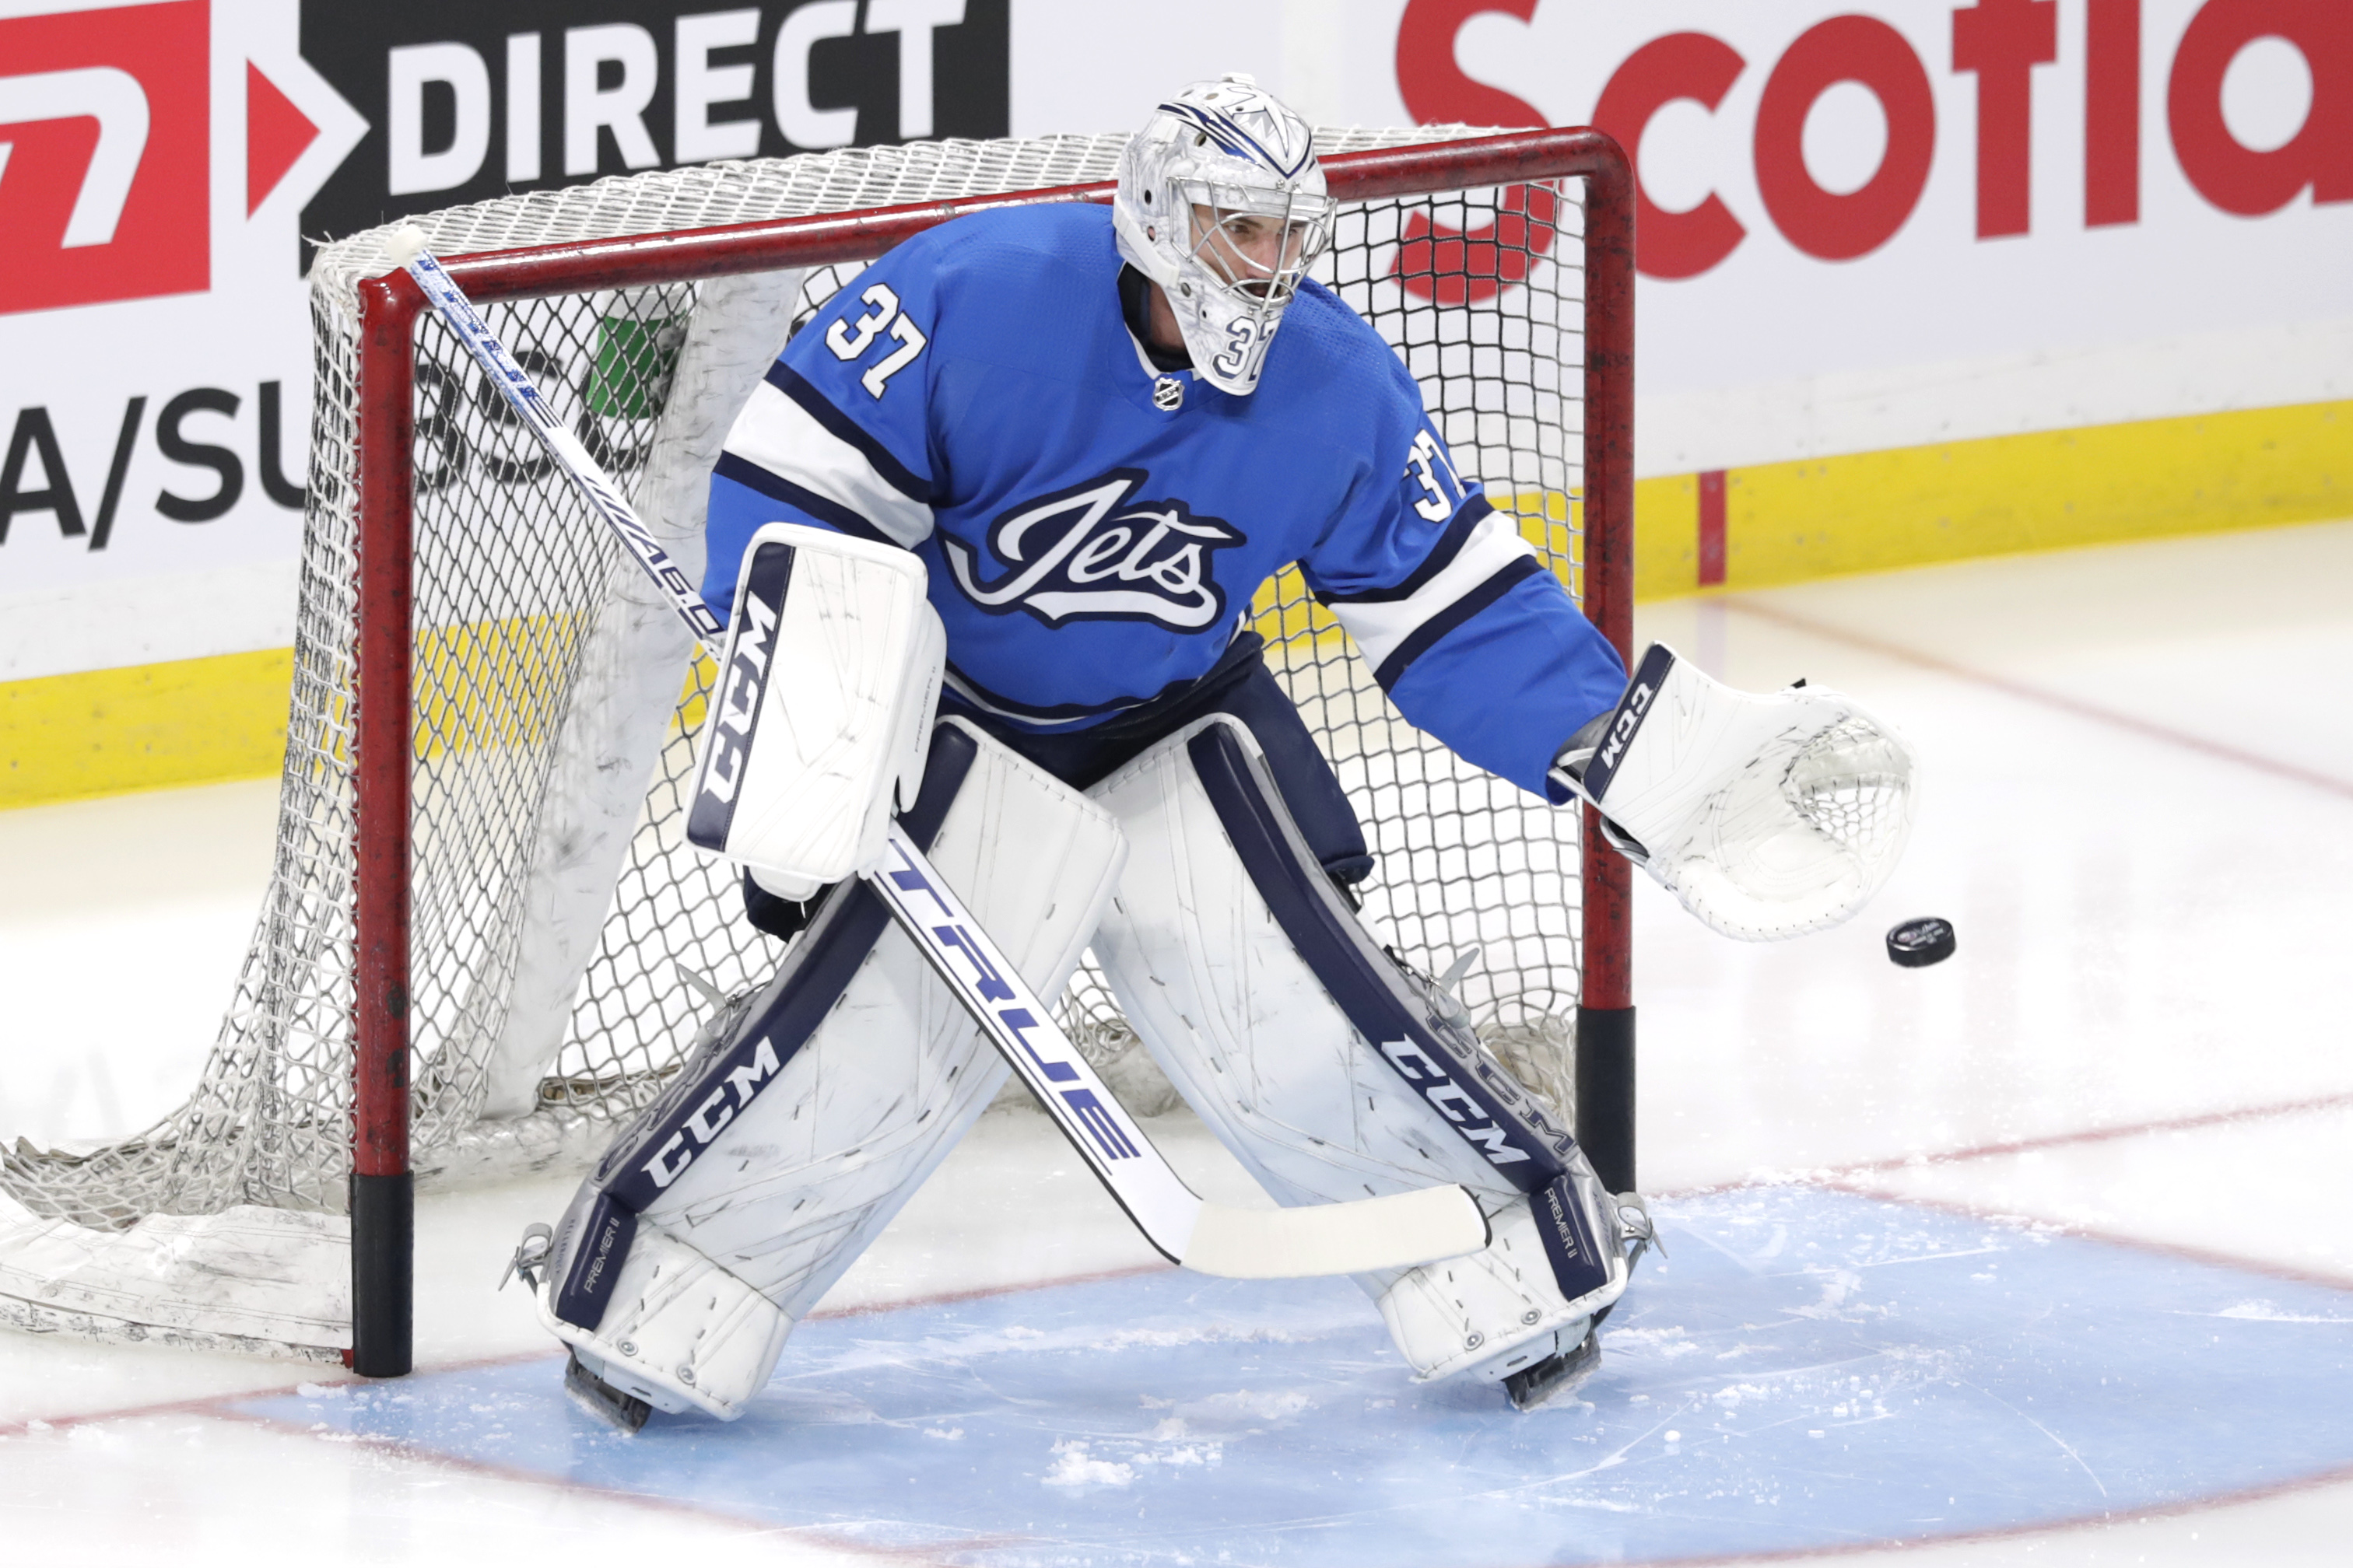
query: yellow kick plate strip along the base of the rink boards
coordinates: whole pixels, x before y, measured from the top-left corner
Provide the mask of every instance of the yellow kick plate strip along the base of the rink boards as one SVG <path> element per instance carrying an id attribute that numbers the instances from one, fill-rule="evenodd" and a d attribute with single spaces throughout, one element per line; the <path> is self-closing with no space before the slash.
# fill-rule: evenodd
<path id="1" fill-rule="evenodd" d="M 1497 498 L 1504 505 L 1504 498 Z M 1574 538 L 1567 496 L 1513 496 L 1532 543 Z M 1725 588 L 1769 588 L 1977 555 L 2066 550 L 2353 515 L 2353 402 L 2151 418 L 1977 442 L 1758 463 L 1725 473 Z M 1699 477 L 1635 484 L 1635 599 L 1699 592 Z M 1297 574 L 1282 585 L 1297 588 Z M 1339 637 L 1322 607 L 1268 639 Z M 513 621 L 426 637 L 426 748 L 520 738 L 480 696 L 482 663 L 544 679 L 572 625 Z M 266 778 L 285 759 L 292 649 L 0 682 L 0 806 Z"/>

